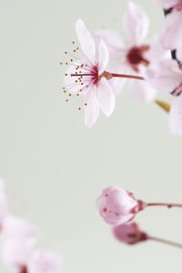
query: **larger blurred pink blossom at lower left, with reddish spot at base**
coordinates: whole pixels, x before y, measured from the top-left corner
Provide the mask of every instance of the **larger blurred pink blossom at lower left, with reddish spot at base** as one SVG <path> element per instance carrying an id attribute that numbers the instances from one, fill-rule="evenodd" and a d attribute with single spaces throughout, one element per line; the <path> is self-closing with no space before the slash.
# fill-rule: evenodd
<path id="1" fill-rule="evenodd" d="M 5 217 L 2 228 L 2 256 L 5 264 L 25 272 L 28 259 L 35 246 L 37 234 L 35 227 L 23 219 Z"/>

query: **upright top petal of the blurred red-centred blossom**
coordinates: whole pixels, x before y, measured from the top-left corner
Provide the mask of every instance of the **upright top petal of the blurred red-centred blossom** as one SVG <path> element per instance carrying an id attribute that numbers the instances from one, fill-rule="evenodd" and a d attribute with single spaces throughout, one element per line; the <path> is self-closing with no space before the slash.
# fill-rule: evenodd
<path id="1" fill-rule="evenodd" d="M 140 45 L 147 35 L 148 26 L 145 11 L 134 2 L 129 2 L 124 15 L 124 29 L 130 44 Z"/>

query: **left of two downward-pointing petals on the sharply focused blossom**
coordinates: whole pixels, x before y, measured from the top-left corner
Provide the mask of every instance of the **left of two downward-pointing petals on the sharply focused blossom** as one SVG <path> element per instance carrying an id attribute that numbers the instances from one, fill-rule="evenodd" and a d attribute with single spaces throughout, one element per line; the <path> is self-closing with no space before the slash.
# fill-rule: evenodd
<path id="1" fill-rule="evenodd" d="M 86 126 L 91 127 L 95 124 L 96 119 L 99 116 L 99 105 L 96 96 L 96 87 L 90 88 L 87 93 L 88 96 L 85 100 L 85 123 Z"/>

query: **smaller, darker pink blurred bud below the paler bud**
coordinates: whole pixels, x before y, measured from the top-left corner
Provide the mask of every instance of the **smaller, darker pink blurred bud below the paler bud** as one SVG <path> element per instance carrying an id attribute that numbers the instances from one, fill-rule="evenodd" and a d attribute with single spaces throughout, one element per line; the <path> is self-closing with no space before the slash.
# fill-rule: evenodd
<path id="1" fill-rule="evenodd" d="M 113 227 L 113 234 L 120 242 L 128 245 L 134 245 L 148 238 L 147 233 L 141 231 L 136 223 L 125 223 Z"/>

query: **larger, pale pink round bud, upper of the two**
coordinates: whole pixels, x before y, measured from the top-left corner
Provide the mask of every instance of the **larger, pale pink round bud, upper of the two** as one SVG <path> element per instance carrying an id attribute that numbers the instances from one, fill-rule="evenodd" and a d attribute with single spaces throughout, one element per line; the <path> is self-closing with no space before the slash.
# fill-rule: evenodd
<path id="1" fill-rule="evenodd" d="M 117 226 L 130 221 L 147 205 L 120 187 L 107 187 L 97 198 L 96 206 L 107 224 Z"/>

